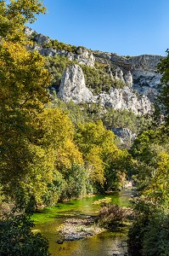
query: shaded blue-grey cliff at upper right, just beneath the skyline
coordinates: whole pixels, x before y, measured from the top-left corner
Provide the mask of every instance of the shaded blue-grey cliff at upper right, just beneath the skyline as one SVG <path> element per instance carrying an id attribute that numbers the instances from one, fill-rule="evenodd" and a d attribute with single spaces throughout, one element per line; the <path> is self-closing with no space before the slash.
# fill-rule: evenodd
<path id="1" fill-rule="evenodd" d="M 93 52 L 96 61 L 118 67 L 124 73 L 127 86 L 136 90 L 139 94 L 148 96 L 150 102 L 155 101 L 158 94 L 158 86 L 161 84 L 161 74 L 157 73 L 157 65 L 163 56 L 139 55 L 121 56 L 101 51 Z"/>

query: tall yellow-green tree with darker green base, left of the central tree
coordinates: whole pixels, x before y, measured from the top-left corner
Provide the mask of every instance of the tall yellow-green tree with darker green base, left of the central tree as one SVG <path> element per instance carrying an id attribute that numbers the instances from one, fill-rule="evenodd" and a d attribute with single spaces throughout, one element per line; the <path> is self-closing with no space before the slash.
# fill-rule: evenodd
<path id="1" fill-rule="evenodd" d="M 45 131 L 43 145 L 54 152 L 53 179 L 48 182 L 43 196 L 45 202 L 54 205 L 60 199 L 85 194 L 86 170 L 82 153 L 74 141 L 75 128 L 67 113 L 59 108 L 46 108 L 41 115 L 41 126 Z"/>

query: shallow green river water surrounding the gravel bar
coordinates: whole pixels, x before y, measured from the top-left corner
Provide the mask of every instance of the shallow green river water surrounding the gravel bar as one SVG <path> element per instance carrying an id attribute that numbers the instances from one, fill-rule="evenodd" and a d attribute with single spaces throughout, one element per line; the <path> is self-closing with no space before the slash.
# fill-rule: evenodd
<path id="1" fill-rule="evenodd" d="M 36 230 L 40 230 L 42 235 L 48 238 L 49 249 L 52 256 L 108 256 L 113 253 L 125 253 L 127 251 L 126 234 L 117 234 L 110 231 L 99 235 L 82 239 L 79 241 L 65 241 L 59 245 L 57 229 L 66 218 L 82 218 L 96 215 L 99 206 L 94 205 L 94 201 L 111 198 L 111 201 L 120 206 L 128 206 L 128 198 L 131 196 L 131 190 L 114 192 L 111 195 L 92 195 L 81 200 L 59 203 L 57 207 L 47 207 L 41 212 L 34 214 Z"/>

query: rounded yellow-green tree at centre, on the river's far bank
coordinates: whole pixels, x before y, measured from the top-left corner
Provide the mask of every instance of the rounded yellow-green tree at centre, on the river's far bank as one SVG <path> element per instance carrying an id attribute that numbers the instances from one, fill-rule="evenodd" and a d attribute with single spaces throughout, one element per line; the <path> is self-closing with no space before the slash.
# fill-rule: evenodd
<path id="1" fill-rule="evenodd" d="M 118 188 L 121 173 L 127 167 L 124 164 L 127 152 L 117 148 L 114 140 L 114 133 L 106 130 L 101 120 L 79 125 L 76 131 L 76 143 L 83 154 L 88 177 L 105 189 Z"/>

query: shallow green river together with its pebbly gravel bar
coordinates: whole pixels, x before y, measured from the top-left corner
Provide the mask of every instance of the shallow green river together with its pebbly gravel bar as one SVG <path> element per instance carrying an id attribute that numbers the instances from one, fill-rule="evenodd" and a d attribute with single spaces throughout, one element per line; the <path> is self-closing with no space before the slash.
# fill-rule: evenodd
<path id="1" fill-rule="evenodd" d="M 48 239 L 49 252 L 52 256 L 110 256 L 113 253 L 124 255 L 127 252 L 127 247 L 121 246 L 121 241 L 127 240 L 126 229 L 117 232 L 105 230 L 96 235 L 93 231 L 86 229 L 94 228 L 93 222 L 99 213 L 99 205 L 95 204 L 94 201 L 107 197 L 111 199 L 113 204 L 128 207 L 128 199 L 131 195 L 132 190 L 124 189 L 109 195 L 91 195 L 80 200 L 58 203 L 56 207 L 46 207 L 35 213 L 32 218 L 36 223 L 35 230 L 41 231 L 42 236 Z M 91 221 L 88 218 L 92 218 Z M 81 221 L 86 221 L 84 219 L 87 219 L 89 223 L 81 223 Z M 74 220 L 77 222 L 75 223 Z M 77 228 L 81 224 L 82 226 Z M 65 229 L 65 234 L 59 232 L 62 228 Z M 79 237 L 77 238 L 79 239 L 64 240 L 70 233 L 68 230 L 73 231 L 74 229 L 78 231 Z M 80 231 L 84 231 L 84 233 Z M 72 234 L 70 233 L 70 235 Z"/>

